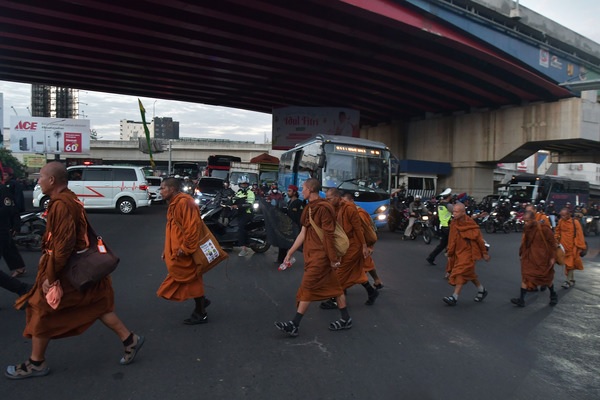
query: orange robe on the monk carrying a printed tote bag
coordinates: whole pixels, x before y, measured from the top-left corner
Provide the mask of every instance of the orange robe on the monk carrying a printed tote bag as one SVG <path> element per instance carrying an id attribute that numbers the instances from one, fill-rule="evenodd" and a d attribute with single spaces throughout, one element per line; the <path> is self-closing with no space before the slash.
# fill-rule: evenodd
<path id="1" fill-rule="evenodd" d="M 200 246 L 200 218 L 194 199 L 185 193 L 176 194 L 169 202 L 163 257 L 167 277 L 156 294 L 167 300 L 185 301 L 204 296 L 202 274 L 197 272 L 192 253 Z M 185 255 L 177 256 L 181 249 Z"/>

